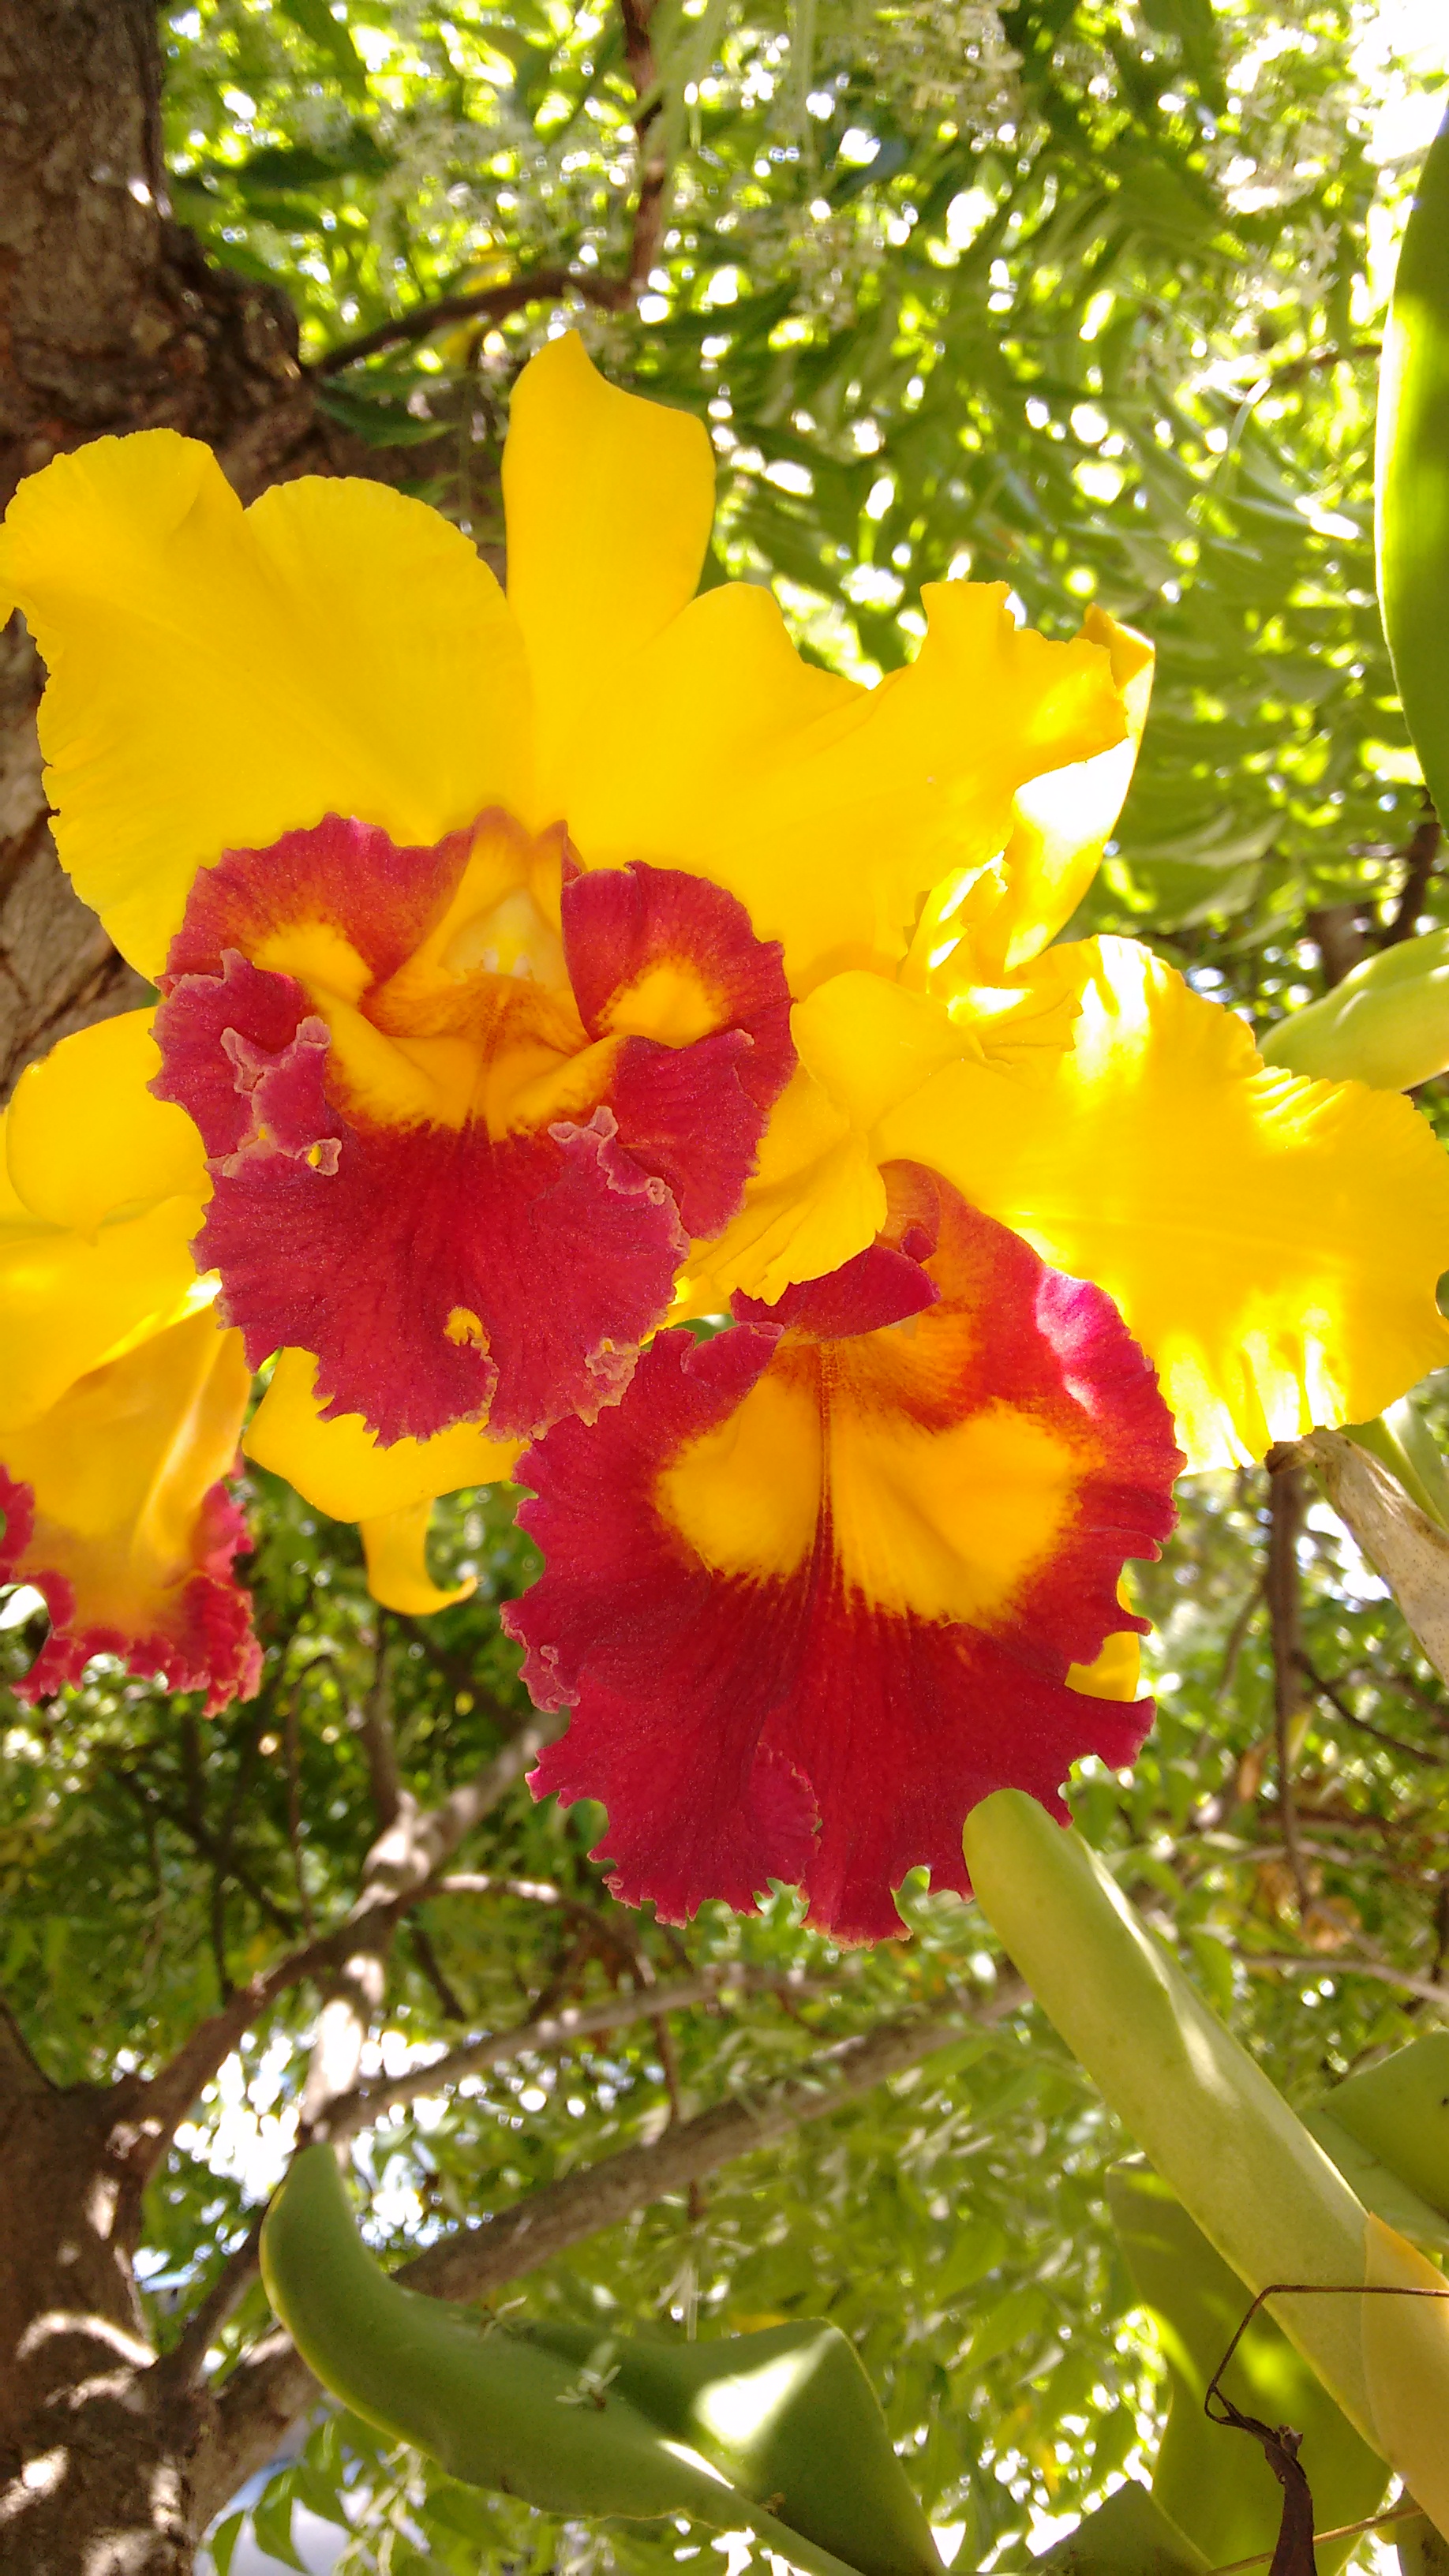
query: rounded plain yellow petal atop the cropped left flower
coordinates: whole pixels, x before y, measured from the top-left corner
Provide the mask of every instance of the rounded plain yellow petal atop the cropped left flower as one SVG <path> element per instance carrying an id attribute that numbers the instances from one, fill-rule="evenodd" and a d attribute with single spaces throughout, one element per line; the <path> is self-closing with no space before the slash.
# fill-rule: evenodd
<path id="1" fill-rule="evenodd" d="M 152 1100 L 160 1074 L 152 1012 L 129 1010 L 62 1038 L 26 1066 L 5 1113 L 15 1198 L 52 1226 L 95 1234 L 106 1218 L 162 1198 L 211 1195 L 201 1136 L 186 1110 Z"/>

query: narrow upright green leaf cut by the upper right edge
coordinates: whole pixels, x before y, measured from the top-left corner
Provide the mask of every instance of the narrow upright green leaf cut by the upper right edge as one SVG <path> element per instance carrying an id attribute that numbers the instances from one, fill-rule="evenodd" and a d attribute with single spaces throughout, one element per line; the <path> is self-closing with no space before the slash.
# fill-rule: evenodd
<path id="1" fill-rule="evenodd" d="M 1449 814 L 1449 126 L 1423 162 L 1385 330 L 1377 541 L 1403 711 Z"/>

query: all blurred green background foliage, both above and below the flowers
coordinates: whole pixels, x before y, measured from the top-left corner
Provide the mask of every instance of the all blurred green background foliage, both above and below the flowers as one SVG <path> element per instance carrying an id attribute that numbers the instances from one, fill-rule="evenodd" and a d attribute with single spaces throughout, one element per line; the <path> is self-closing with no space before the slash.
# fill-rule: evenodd
<path id="1" fill-rule="evenodd" d="M 619 381 L 706 415 L 714 574 L 773 577 L 804 649 L 887 672 L 920 585 L 1003 580 L 1065 631 L 1088 600 L 1145 626 L 1160 683 L 1119 848 L 1078 927 L 1129 927 L 1199 989 L 1276 1018 L 1320 987 L 1310 912 L 1374 943 L 1421 786 L 1372 577 L 1372 402 L 1405 175 L 1366 157 L 1351 0 L 660 0 L 634 85 L 616 10 L 562 0 L 199 0 L 162 13 L 178 216 L 294 304 L 340 430 L 387 451 L 485 549 L 523 355 L 559 319 Z M 647 116 L 657 106 L 657 113 Z M 645 121 L 647 118 L 647 121 Z M 642 126 L 642 134 L 637 131 Z M 665 173 L 655 240 L 639 170 Z M 1377 191 L 1377 216 L 1369 224 Z M 619 289 L 634 250 L 647 294 Z M 567 270 L 511 301 L 513 281 Z M 425 327 L 436 299 L 498 309 Z M 508 309 L 503 309 L 508 304 Z M 345 363 L 348 343 L 418 317 Z M 1436 881 L 1426 922 L 1449 922 Z M 1434 1095 L 1426 1103 L 1434 1108 Z M 1441 1414 L 1436 1399 L 1434 1419 Z M 1315 1504 L 1305 1703 L 1284 1852 L 1266 1479 L 1194 1479 L 1163 1564 L 1158 1726 L 1132 1780 L 1085 1765 L 1083 1832 L 1204 1999 L 1310 2107 L 1410 2040 L 1449 1955 L 1449 1705 L 1385 1587 Z M 402 1785 L 436 1798 L 518 1726 L 498 1605 L 531 1574 L 508 1497 L 459 1497 L 438 1574 L 480 1592 L 376 1615 L 356 1540 L 253 1476 L 255 1703 L 201 1723 L 101 1659 L 41 1713 L 5 1703 L 0 1986 L 57 2081 L 160 2063 L 237 1984 L 353 1899 L 376 1829 L 369 1698 Z M 31 1605 L 34 1607 L 34 1605 Z M 0 1669 L 36 1643 L 15 1595 Z M 614 1906 L 598 1811 L 518 1788 L 389 1958 L 369 2058 L 619 1999 L 619 2025 L 420 2092 L 361 2143 L 389 2259 L 670 2120 L 750 2097 L 910 2007 L 990 1994 L 975 1909 L 915 1891 L 913 1937 L 843 1955 L 776 1896 L 686 1932 Z M 732 1968 L 712 2004 L 634 1986 Z M 745 1986 L 758 1978 L 797 1984 Z M 139 2277 L 173 2342 L 278 2179 L 315 2020 L 284 1996 L 206 2089 L 147 2202 Z M 590 2236 L 498 2300 L 570 2336 L 848 2336 L 957 2568 L 1026 2563 L 1034 2517 L 1150 2476 L 1165 2370 L 1106 2215 L 1124 2138 L 1034 2012 Z M 268 2326 L 253 2287 L 224 2362 Z M 1217 2434 L 1227 2447 L 1240 2442 Z M 1142 2483 L 1057 2563 L 1150 2550 Z M 673 2519 L 598 2543 L 327 2411 L 253 2512 L 294 2506 L 345 2566 L 676 2576 Z M 242 2522 L 211 2555 L 227 2571 Z M 1096 2540 L 1093 2540 L 1096 2532 Z M 1418 2548 L 1418 2543 L 1413 2543 Z M 712 2563 L 706 2558 L 706 2563 Z M 1423 2558 L 1423 2566 L 1431 2561 Z"/>

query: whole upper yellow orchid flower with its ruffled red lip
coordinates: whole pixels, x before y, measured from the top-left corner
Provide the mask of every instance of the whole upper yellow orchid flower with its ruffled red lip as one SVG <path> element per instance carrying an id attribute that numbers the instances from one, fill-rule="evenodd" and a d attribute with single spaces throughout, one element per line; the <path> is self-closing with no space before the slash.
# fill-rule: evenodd
<path id="1" fill-rule="evenodd" d="M 694 598 L 704 425 L 575 337 L 516 386 L 503 487 L 508 598 L 418 502 L 242 510 L 165 430 L 57 459 L 0 536 L 59 855 L 165 992 L 199 1265 L 253 1365 L 309 1352 L 387 1445 L 616 1401 L 740 1211 L 792 994 L 895 969 L 1024 786 L 1127 739 L 1104 644 L 1000 590 L 933 592 L 874 693 L 768 592 Z"/>

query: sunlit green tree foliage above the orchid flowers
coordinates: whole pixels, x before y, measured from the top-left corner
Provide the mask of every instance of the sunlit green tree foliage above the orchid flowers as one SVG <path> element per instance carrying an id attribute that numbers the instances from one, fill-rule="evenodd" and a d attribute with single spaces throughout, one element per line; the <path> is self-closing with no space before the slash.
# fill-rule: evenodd
<path id="1" fill-rule="evenodd" d="M 1374 608 L 1385 237 L 1369 258 L 1351 0 L 668 0 L 642 144 L 603 8 L 371 0 L 325 41 L 302 15 L 170 18 L 209 247 L 333 358 L 459 286 L 544 281 L 330 374 L 348 428 L 415 438 L 428 495 L 498 544 L 508 384 L 567 319 L 709 415 L 719 564 L 773 577 L 825 659 L 895 667 L 920 585 L 962 569 L 1049 629 L 1098 598 L 1160 680 L 1088 925 L 1269 1015 L 1307 997 L 1305 912 L 1382 902 L 1418 811 Z M 634 314 L 639 160 L 668 178 Z"/>

